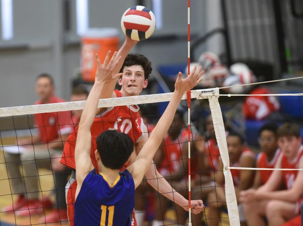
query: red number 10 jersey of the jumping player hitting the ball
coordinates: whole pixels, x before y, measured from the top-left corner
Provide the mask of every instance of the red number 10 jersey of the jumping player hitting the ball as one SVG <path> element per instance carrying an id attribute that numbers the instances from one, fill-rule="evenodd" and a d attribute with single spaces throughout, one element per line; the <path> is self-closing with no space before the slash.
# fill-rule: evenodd
<path id="1" fill-rule="evenodd" d="M 115 90 L 117 97 L 121 97 L 119 90 Z M 120 132 L 124 132 L 130 136 L 134 143 L 143 136 L 143 120 L 138 113 L 137 105 L 115 106 L 108 108 L 107 111 L 95 117 L 91 125 L 91 149 L 90 159 L 95 169 L 98 170 L 98 164 L 95 159 L 96 139 L 103 131 L 114 128 Z M 63 155 L 60 163 L 76 169 L 75 164 L 75 146 L 77 138 L 78 126 L 73 130 L 65 142 Z"/>

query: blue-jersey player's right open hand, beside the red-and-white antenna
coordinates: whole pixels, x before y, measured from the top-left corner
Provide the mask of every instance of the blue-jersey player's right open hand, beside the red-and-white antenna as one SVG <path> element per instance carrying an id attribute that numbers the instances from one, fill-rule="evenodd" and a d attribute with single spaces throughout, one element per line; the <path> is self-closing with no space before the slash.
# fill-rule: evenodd
<path id="1" fill-rule="evenodd" d="M 200 78 L 203 73 L 204 71 L 202 71 L 201 66 L 199 66 L 198 69 L 197 66 L 195 66 L 189 76 L 185 79 L 182 79 L 182 73 L 179 72 L 177 80 L 174 83 L 174 90 L 184 94 L 187 90 L 194 88 L 199 82 L 202 81 Z"/>

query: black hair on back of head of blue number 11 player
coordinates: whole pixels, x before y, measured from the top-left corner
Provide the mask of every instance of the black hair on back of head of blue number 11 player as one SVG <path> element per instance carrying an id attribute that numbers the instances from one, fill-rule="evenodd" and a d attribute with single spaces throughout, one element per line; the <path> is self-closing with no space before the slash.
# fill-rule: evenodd
<path id="1" fill-rule="evenodd" d="M 121 169 L 133 152 L 130 136 L 117 130 L 106 130 L 96 140 L 101 162 L 110 169 Z"/>

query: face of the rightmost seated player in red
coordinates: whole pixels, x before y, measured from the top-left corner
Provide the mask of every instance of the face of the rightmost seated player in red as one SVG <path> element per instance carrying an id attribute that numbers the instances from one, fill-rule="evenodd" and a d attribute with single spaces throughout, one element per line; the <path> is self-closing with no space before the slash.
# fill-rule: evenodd
<path id="1" fill-rule="evenodd" d="M 301 142 L 301 137 L 298 138 L 296 136 L 279 137 L 278 139 L 278 145 L 281 151 L 289 160 L 296 158 Z"/>

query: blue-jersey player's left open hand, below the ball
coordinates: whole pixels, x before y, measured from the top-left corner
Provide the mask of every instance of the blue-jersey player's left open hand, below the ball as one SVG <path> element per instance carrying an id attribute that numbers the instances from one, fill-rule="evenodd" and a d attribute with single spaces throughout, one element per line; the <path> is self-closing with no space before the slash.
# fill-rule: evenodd
<path id="1" fill-rule="evenodd" d="M 122 73 L 112 74 L 115 66 L 121 61 L 121 56 L 117 57 L 117 52 L 115 51 L 109 60 L 110 54 L 111 51 L 109 50 L 103 64 L 100 62 L 98 54 L 96 54 L 97 71 L 95 82 L 108 82 L 117 79 L 122 75 Z"/>

